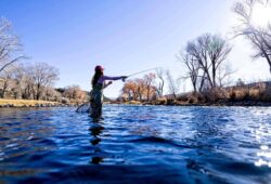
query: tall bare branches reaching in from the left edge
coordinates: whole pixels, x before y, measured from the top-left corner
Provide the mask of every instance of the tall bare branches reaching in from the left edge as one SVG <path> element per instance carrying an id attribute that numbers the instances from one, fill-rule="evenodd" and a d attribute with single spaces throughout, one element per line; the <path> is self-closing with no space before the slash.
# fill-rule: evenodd
<path id="1" fill-rule="evenodd" d="M 22 44 L 11 31 L 12 25 L 5 18 L 0 18 L 0 73 L 13 63 L 25 58 L 18 55 Z"/>

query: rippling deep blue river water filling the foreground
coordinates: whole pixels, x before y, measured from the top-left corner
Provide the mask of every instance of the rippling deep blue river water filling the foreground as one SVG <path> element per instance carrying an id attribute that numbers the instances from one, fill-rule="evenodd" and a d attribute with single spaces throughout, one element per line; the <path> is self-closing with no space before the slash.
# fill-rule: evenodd
<path id="1" fill-rule="evenodd" d="M 270 107 L 0 109 L 0 183 L 270 183 Z"/>

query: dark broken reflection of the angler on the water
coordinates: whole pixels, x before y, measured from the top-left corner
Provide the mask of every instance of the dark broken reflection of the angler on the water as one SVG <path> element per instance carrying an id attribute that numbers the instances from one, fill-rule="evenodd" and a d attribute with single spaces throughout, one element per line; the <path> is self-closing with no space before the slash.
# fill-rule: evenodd
<path id="1" fill-rule="evenodd" d="M 91 158 L 91 161 L 90 161 L 93 165 L 99 165 L 100 162 L 103 161 L 103 157 L 99 155 L 101 153 L 101 149 L 99 147 L 99 143 L 102 141 L 99 137 L 99 135 L 102 133 L 103 129 L 104 129 L 104 127 L 102 127 L 100 124 L 94 124 L 89 129 L 90 135 L 92 136 L 92 140 L 90 141 L 90 143 L 93 146 L 95 146 L 93 157 Z"/>

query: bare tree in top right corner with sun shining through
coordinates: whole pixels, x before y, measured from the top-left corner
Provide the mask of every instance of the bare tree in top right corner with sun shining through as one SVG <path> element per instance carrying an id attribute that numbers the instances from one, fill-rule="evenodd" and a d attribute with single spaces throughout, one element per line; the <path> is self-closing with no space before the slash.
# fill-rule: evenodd
<path id="1" fill-rule="evenodd" d="M 255 25 L 253 22 L 256 5 L 271 8 L 269 0 L 243 0 L 234 4 L 233 12 L 237 15 L 240 25 L 234 28 L 235 35 L 243 36 L 250 41 L 255 54 L 254 58 L 264 57 L 271 73 L 271 22 L 264 26 Z M 270 13 L 270 12 L 269 12 Z M 270 16 L 270 15 L 266 15 Z"/>

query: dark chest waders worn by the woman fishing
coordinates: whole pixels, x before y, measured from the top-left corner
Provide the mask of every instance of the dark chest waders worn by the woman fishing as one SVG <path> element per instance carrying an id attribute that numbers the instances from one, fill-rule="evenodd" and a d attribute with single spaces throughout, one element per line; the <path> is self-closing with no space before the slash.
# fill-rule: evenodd
<path id="1" fill-rule="evenodd" d="M 91 110 L 90 117 L 93 120 L 99 120 L 102 117 L 102 107 L 103 107 L 103 83 L 96 83 L 91 91 Z"/>

